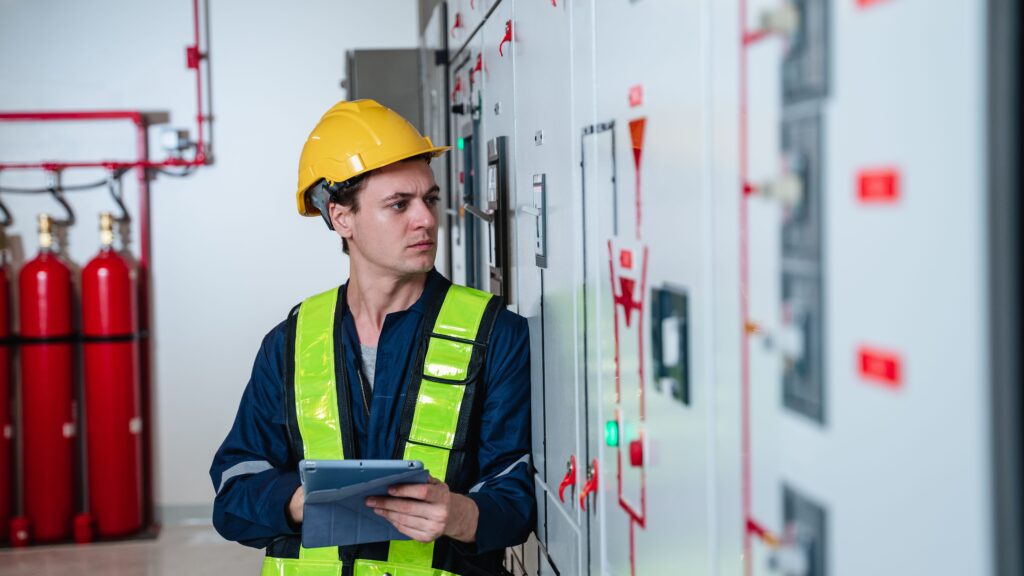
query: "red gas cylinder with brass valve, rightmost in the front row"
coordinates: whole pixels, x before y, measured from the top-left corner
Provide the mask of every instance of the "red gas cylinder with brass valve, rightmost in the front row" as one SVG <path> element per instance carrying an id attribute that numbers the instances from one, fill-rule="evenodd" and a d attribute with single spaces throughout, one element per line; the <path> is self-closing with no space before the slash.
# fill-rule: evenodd
<path id="1" fill-rule="evenodd" d="M 101 537 L 142 528 L 135 287 L 113 248 L 114 220 L 100 214 L 99 254 L 82 270 L 82 339 L 89 511 Z"/>

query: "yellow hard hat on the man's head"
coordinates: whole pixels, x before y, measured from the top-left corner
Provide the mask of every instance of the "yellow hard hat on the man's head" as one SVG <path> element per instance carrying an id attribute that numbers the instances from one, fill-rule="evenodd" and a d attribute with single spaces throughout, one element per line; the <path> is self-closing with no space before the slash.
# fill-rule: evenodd
<path id="1" fill-rule="evenodd" d="M 295 193 L 299 213 L 319 214 L 306 191 L 322 178 L 343 182 L 414 156 L 435 158 L 449 148 L 435 147 L 409 121 L 375 100 L 340 101 L 321 118 L 302 147 Z"/>

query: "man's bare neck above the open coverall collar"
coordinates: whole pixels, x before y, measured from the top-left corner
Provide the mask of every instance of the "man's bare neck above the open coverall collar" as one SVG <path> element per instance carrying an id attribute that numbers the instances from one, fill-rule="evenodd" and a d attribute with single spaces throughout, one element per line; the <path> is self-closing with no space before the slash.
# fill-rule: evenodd
<path id="1" fill-rule="evenodd" d="M 362 266 L 350 268 L 346 299 L 359 333 L 359 342 L 376 346 L 384 319 L 392 312 L 408 310 L 416 303 L 423 293 L 429 273 L 396 277 L 360 269 Z"/>

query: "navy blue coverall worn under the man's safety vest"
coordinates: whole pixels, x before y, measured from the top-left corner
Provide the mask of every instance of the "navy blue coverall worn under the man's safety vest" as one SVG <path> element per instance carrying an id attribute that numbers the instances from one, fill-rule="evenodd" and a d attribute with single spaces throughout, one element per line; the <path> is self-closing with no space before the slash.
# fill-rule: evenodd
<path id="1" fill-rule="evenodd" d="M 384 319 L 369 418 L 358 387 L 358 335 L 352 315 L 345 311 L 343 347 L 358 458 L 386 459 L 394 454 L 424 310 L 428 298 L 445 283 L 446 279 L 431 271 L 416 303 Z M 263 338 L 234 423 L 210 467 L 217 491 L 214 527 L 224 538 L 253 547 L 298 534 L 299 528 L 287 516 L 300 482 L 288 449 L 290 407 L 284 405 L 283 376 L 286 337 L 283 322 Z M 501 311 L 484 362 L 484 377 L 478 384 L 483 400 L 476 450 L 469 451 L 462 474 L 449 483 L 453 492 L 466 494 L 479 508 L 475 545 L 459 546 L 467 553 L 493 552 L 525 541 L 536 517 L 528 457 L 529 334 L 525 319 Z"/>

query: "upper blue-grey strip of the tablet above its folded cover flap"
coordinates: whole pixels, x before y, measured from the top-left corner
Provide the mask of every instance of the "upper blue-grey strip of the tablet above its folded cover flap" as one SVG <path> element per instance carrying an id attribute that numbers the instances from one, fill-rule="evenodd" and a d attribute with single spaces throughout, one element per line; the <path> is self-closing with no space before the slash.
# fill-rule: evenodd
<path id="1" fill-rule="evenodd" d="M 299 478 L 306 494 L 309 494 L 396 476 L 411 481 L 395 484 L 420 484 L 426 482 L 423 476 L 411 472 L 422 469 L 423 462 L 419 460 L 301 460 Z"/>

